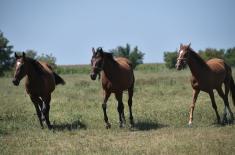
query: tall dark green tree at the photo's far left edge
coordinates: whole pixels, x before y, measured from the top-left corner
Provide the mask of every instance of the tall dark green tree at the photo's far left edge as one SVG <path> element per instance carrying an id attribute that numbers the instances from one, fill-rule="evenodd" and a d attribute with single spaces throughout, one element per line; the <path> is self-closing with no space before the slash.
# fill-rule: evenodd
<path id="1" fill-rule="evenodd" d="M 11 54 L 13 46 L 9 45 L 9 41 L 4 37 L 0 31 L 0 76 L 4 74 L 4 71 L 11 69 L 13 59 Z"/>

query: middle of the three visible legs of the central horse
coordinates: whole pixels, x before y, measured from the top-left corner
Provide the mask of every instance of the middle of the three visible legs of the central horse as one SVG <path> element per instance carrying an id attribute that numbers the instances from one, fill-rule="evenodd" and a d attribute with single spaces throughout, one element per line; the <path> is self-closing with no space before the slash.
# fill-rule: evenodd
<path id="1" fill-rule="evenodd" d="M 123 122 L 124 122 L 124 105 L 123 105 L 123 102 L 122 102 L 122 96 L 123 96 L 123 93 L 122 92 L 119 92 L 119 93 L 115 93 L 115 97 L 118 101 L 118 107 L 117 107 L 117 110 L 118 110 L 118 113 L 119 113 L 119 127 L 122 128 L 124 126 Z"/>

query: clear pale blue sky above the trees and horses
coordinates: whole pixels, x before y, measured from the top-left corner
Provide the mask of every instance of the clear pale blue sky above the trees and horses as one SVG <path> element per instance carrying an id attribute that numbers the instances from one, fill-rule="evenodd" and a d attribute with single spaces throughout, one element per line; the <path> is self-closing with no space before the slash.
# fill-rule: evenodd
<path id="1" fill-rule="evenodd" d="M 89 64 L 92 47 L 138 46 L 163 62 L 180 43 L 198 51 L 235 46 L 235 0 L 0 0 L 0 31 L 15 51 Z"/>

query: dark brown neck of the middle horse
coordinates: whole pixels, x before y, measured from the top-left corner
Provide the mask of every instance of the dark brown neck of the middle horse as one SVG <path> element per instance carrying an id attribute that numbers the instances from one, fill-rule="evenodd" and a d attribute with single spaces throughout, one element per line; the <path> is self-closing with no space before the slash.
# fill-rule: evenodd
<path id="1" fill-rule="evenodd" d="M 106 77 L 113 81 L 117 77 L 117 62 L 110 60 L 109 58 L 104 59 L 103 71 Z"/>

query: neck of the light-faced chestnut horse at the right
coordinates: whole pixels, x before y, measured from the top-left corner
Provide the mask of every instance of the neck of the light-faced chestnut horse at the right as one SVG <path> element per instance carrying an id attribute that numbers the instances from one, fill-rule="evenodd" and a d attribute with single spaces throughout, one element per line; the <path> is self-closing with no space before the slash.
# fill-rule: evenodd
<path id="1" fill-rule="evenodd" d="M 188 66 L 192 75 L 196 79 L 201 79 L 208 73 L 209 67 L 206 62 L 194 51 L 191 51 L 191 55 L 188 59 Z"/>

